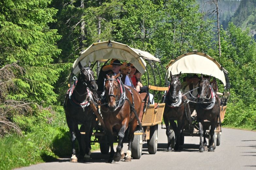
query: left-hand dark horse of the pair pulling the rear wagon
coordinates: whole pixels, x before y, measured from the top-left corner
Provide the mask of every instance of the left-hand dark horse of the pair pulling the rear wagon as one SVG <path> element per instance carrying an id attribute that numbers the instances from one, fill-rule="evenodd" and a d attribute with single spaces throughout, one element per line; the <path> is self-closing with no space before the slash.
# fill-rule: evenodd
<path id="1" fill-rule="evenodd" d="M 170 85 L 164 98 L 166 106 L 163 118 L 166 125 L 166 135 L 168 138 L 167 151 L 172 151 L 171 130 L 169 127 L 169 123 L 172 126 L 175 134 L 174 150 L 182 149 L 180 147 L 180 138 L 183 133 L 184 127 L 189 125 L 190 130 L 193 130 L 190 109 L 186 101 L 187 98 L 180 91 L 180 76 L 181 72 L 177 75 L 172 75 L 172 73 L 170 72 Z M 174 122 L 174 120 L 177 120 L 177 124 Z"/>

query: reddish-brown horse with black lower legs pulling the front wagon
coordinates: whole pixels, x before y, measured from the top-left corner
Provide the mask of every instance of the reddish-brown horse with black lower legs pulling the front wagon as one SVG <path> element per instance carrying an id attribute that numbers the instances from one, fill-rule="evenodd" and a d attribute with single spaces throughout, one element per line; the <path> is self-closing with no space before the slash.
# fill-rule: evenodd
<path id="1" fill-rule="evenodd" d="M 101 113 L 107 130 L 107 138 L 110 145 L 110 159 L 108 162 L 120 161 L 124 158 L 122 142 L 125 131 L 129 128 L 128 150 L 125 156 L 126 162 L 131 162 L 131 146 L 134 138 L 134 131 L 137 127 L 136 115 L 140 112 L 141 98 L 136 89 L 127 87 L 120 81 L 120 73 L 106 76 L 104 96 L 101 106 Z M 113 148 L 114 131 L 118 133 L 118 146 L 115 153 Z"/>

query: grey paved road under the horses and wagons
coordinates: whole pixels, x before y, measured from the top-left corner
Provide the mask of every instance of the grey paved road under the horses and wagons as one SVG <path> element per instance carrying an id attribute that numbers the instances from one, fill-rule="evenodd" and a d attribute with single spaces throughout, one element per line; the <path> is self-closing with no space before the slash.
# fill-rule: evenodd
<path id="1" fill-rule="evenodd" d="M 158 139 L 156 154 L 150 155 L 147 144 L 144 143 L 141 158 L 132 159 L 130 163 L 123 161 L 114 164 L 106 163 L 108 155 L 102 155 L 96 151 L 92 153 L 90 163 L 70 163 L 69 159 L 60 159 L 57 162 L 40 163 L 20 168 L 20 170 L 256 169 L 256 132 L 222 128 L 220 146 L 217 146 L 215 152 L 203 153 L 198 151 L 199 137 L 185 137 L 184 149 L 181 152 L 166 152 L 167 137 L 165 129 L 160 127 Z"/>

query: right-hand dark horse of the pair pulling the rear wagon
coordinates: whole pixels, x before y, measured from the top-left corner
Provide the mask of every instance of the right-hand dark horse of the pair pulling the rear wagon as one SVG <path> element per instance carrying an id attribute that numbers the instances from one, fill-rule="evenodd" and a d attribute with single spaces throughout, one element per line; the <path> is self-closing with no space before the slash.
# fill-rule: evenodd
<path id="1" fill-rule="evenodd" d="M 204 146 L 207 145 L 206 142 L 206 130 L 209 128 L 209 125 L 211 125 L 210 129 L 210 136 L 211 140 L 209 143 L 209 149 L 208 151 L 214 151 L 214 130 L 218 122 L 218 117 L 220 114 L 220 98 L 218 95 L 214 93 L 213 87 L 210 84 L 209 78 L 204 78 L 201 74 L 201 81 L 200 81 L 200 93 L 197 98 L 197 104 L 196 104 L 196 112 L 197 112 L 197 121 L 199 123 L 199 135 L 200 135 L 200 147 L 199 151 L 203 152 Z M 204 120 L 208 120 L 209 122 L 205 122 Z M 203 141 L 202 141 L 203 136 Z M 216 143 L 214 144 L 216 145 Z"/>

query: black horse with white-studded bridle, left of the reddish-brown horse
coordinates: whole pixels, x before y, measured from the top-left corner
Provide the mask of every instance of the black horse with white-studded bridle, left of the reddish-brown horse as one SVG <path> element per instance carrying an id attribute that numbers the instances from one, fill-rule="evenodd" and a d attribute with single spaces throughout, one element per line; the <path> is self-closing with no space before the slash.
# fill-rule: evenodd
<path id="1" fill-rule="evenodd" d="M 71 162 L 77 162 L 75 152 L 75 139 L 77 138 L 79 144 L 79 156 L 84 156 L 85 160 L 90 159 L 90 139 L 92 128 L 96 123 L 96 116 L 89 105 L 88 100 L 92 98 L 92 92 L 97 91 L 98 86 L 94 80 L 94 73 L 89 67 L 82 67 L 78 63 L 80 74 L 78 80 L 68 90 L 65 101 L 64 110 L 66 113 L 66 120 L 71 133 L 72 143 L 72 157 Z M 78 124 L 83 124 L 85 131 L 85 144 L 81 142 L 81 134 L 78 129 Z"/>

